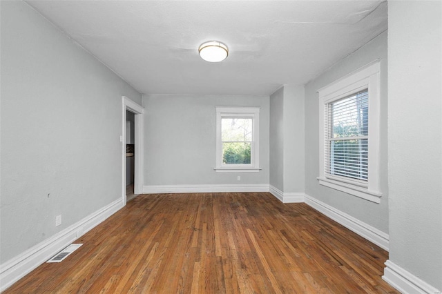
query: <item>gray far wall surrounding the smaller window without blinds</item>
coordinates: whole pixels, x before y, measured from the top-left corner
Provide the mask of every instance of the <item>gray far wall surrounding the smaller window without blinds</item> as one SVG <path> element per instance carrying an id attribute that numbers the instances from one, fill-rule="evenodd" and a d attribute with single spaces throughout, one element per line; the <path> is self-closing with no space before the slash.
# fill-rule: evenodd
<path id="1" fill-rule="evenodd" d="M 268 96 L 144 95 L 143 106 L 144 185 L 269 184 Z M 213 170 L 216 106 L 260 107 L 259 173 Z"/>

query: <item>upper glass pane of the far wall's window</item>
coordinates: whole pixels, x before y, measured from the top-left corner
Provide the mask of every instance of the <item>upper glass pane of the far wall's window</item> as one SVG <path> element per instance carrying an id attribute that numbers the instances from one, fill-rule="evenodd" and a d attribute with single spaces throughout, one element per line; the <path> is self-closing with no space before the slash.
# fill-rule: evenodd
<path id="1" fill-rule="evenodd" d="M 222 118 L 222 141 L 251 141 L 251 118 Z"/>

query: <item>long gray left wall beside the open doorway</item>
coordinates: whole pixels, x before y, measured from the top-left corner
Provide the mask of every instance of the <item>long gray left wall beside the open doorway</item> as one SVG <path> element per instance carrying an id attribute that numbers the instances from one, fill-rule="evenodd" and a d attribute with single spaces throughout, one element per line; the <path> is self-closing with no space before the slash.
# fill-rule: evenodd
<path id="1" fill-rule="evenodd" d="M 28 4 L 0 5 L 3 263 L 122 197 L 122 95 L 141 95 Z"/>

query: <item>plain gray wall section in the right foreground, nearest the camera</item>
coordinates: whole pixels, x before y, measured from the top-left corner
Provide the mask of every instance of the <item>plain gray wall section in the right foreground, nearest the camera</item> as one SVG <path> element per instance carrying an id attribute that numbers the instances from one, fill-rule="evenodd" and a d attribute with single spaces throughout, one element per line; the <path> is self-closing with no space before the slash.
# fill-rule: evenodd
<path id="1" fill-rule="evenodd" d="M 440 1 L 390 1 L 390 261 L 442 290 Z"/>

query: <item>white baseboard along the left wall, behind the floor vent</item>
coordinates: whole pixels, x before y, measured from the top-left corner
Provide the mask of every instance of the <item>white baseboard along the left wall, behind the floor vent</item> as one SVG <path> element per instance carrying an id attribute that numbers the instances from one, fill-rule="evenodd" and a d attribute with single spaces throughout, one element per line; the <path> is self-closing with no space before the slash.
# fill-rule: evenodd
<path id="1" fill-rule="evenodd" d="M 44 240 L 27 251 L 0 265 L 0 292 L 17 282 L 30 271 L 43 264 L 84 233 L 104 222 L 124 206 L 122 199 L 115 200 L 95 213 Z"/>

